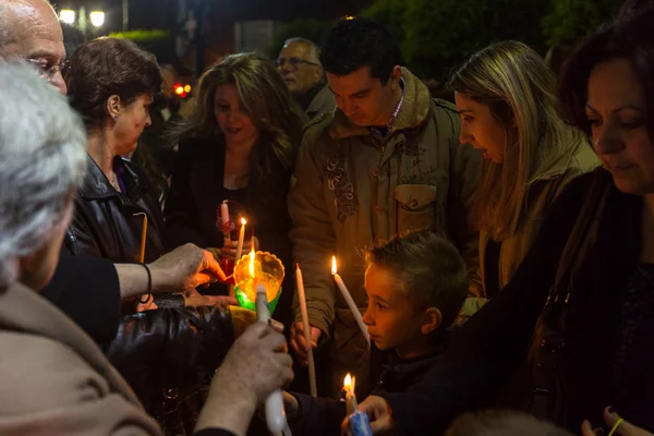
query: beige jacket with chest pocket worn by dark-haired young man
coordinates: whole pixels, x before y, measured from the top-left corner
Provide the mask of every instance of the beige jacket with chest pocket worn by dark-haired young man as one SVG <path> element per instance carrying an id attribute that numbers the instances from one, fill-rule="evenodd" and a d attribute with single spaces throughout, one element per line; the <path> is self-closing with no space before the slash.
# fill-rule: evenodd
<path id="1" fill-rule="evenodd" d="M 477 268 L 479 233 L 468 225 L 468 214 L 481 154 L 459 144 L 452 105 L 432 99 L 407 69 L 402 77 L 404 102 L 385 143 L 339 109 L 307 124 L 289 193 L 293 257 L 303 270 L 310 324 L 334 335 L 335 358 L 343 365 L 361 359 L 365 342 L 335 288 L 332 255 L 362 313 L 361 254 L 375 240 L 431 229 L 448 237 L 472 270 Z M 296 301 L 295 319 L 301 319 Z"/>

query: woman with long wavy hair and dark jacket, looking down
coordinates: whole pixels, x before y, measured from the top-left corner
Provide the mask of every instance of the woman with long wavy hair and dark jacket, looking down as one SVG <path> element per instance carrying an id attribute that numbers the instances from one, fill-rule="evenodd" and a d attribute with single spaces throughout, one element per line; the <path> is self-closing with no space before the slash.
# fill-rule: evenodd
<path id="1" fill-rule="evenodd" d="M 223 201 L 237 201 L 261 249 L 289 268 L 286 197 L 302 117 L 270 61 L 240 53 L 213 65 L 201 78 L 193 112 L 178 133 L 180 154 L 165 210 L 168 247 L 193 242 L 233 257 L 234 246 L 223 245 L 216 217 Z M 283 289 L 276 318 L 288 323 L 292 287 Z"/>

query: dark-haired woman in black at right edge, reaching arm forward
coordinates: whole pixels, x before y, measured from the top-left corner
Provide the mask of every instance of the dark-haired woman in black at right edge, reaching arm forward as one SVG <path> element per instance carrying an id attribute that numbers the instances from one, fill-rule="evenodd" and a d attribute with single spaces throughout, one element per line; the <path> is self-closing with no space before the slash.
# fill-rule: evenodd
<path id="1" fill-rule="evenodd" d="M 376 428 L 437 434 L 495 402 L 572 432 L 583 422 L 584 435 L 637 434 L 616 413 L 654 431 L 653 26 L 653 11 L 620 19 L 567 61 L 562 118 L 604 168 L 568 184 L 512 280 L 421 385 L 360 404 Z"/>

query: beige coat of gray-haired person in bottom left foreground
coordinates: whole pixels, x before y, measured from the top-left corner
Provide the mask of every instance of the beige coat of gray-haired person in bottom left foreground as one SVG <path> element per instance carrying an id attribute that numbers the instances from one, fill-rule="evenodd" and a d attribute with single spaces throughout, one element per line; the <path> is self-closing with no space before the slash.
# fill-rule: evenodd
<path id="1" fill-rule="evenodd" d="M 22 284 L 0 290 L 0 435 L 160 435 L 100 349 Z"/>

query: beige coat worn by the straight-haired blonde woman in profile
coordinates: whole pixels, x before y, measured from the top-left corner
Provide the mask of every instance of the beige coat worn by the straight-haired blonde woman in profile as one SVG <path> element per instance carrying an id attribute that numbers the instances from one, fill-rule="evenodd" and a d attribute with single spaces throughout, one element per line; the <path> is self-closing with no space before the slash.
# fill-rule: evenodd
<path id="1" fill-rule="evenodd" d="M 561 157 L 552 168 L 537 174 L 529 185 L 528 209 L 517 234 L 502 241 L 499 252 L 499 289 L 502 289 L 518 269 L 541 230 L 547 210 L 564 187 L 576 177 L 593 171 L 600 160 L 585 142 Z M 486 296 L 485 261 L 491 237 L 480 232 L 480 269 L 472 281 L 471 294 Z"/>

